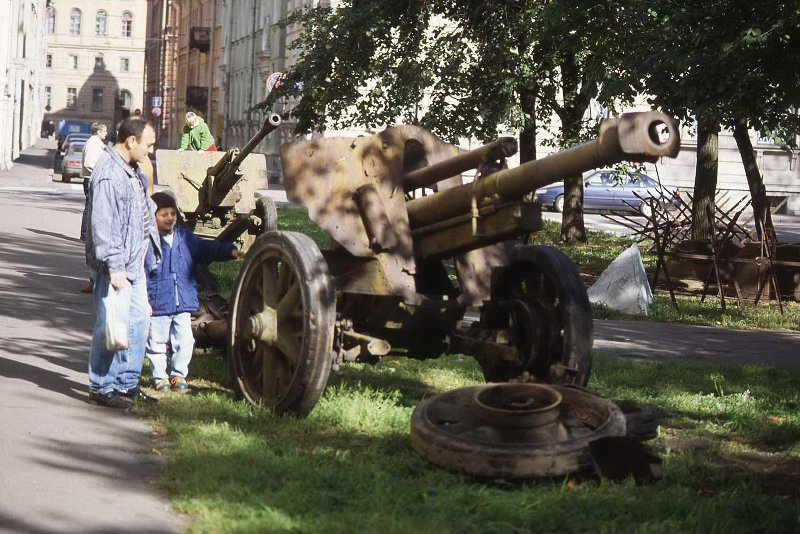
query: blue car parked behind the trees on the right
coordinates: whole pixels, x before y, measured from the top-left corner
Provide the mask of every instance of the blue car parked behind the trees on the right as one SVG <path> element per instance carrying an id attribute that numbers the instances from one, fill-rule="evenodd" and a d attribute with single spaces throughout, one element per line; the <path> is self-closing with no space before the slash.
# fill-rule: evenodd
<path id="1" fill-rule="evenodd" d="M 660 186 L 646 174 L 638 172 L 619 173 L 604 169 L 583 179 L 583 207 L 587 210 L 633 210 L 649 217 L 652 202 L 677 205 L 678 194 L 676 187 Z M 563 183 L 540 189 L 536 196 L 543 206 L 557 212 L 564 211 Z"/>

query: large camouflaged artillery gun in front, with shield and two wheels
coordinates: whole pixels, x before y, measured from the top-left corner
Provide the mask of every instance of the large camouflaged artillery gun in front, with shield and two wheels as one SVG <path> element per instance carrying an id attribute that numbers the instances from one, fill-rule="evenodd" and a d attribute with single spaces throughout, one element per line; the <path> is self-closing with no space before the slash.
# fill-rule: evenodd
<path id="1" fill-rule="evenodd" d="M 526 374 L 585 385 L 586 289 L 557 249 L 508 241 L 541 228 L 540 206 L 523 198 L 596 167 L 674 157 L 678 131 L 664 114 L 629 113 L 604 121 L 593 141 L 508 169 L 516 148 L 504 138 L 461 152 L 413 126 L 284 145 L 287 196 L 330 234 L 331 247 L 269 231 L 250 248 L 227 325 L 241 394 L 305 415 L 331 369 L 398 349 L 473 355 L 487 381 Z M 419 188 L 435 192 L 413 198 Z"/>

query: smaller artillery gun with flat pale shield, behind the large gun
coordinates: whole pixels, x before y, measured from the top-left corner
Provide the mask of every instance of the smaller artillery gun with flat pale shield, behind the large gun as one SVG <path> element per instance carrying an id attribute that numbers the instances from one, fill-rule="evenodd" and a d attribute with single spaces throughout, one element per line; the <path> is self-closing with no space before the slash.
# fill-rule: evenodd
<path id="1" fill-rule="evenodd" d="M 269 187 L 266 157 L 253 150 L 280 124 L 279 115 L 267 116 L 241 150 L 156 151 L 159 185 L 172 191 L 196 234 L 237 242 L 246 250 L 257 235 L 276 228 L 272 200 L 258 196 Z"/>

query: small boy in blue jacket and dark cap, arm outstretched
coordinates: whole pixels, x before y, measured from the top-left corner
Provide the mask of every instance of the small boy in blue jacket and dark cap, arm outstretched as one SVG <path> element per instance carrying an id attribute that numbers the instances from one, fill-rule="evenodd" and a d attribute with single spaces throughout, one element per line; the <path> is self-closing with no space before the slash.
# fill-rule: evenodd
<path id="1" fill-rule="evenodd" d="M 147 357 L 153 368 L 156 391 L 180 393 L 189 385 L 186 375 L 194 350 L 191 312 L 200 308 L 194 267 L 197 263 L 242 257 L 233 243 L 208 241 L 178 224 L 175 199 L 155 193 L 156 227 L 161 234 L 161 262 L 147 273 L 147 296 L 153 315 Z M 152 263 L 148 264 L 152 265 Z M 167 346 L 172 346 L 172 370 L 167 375 Z"/>

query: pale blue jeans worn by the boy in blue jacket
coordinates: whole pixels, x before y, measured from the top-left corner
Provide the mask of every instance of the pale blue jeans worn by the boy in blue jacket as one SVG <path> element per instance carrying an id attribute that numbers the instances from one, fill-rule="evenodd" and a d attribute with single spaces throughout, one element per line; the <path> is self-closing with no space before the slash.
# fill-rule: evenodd
<path id="1" fill-rule="evenodd" d="M 189 312 L 150 318 L 147 357 L 153 366 L 153 380 L 167 379 L 167 343 L 172 346 L 172 371 L 169 375 L 186 378 L 194 350 Z"/>

